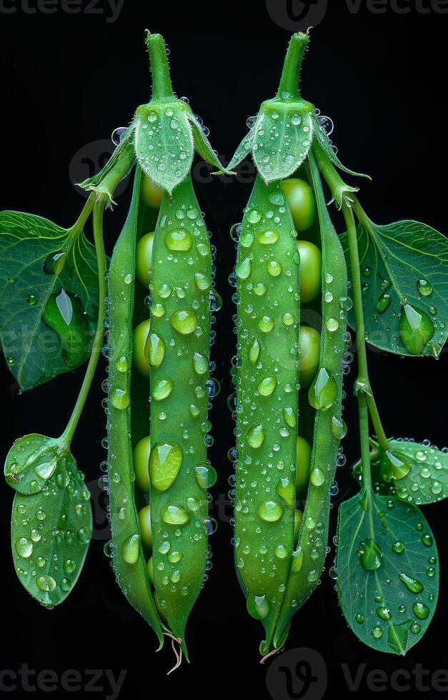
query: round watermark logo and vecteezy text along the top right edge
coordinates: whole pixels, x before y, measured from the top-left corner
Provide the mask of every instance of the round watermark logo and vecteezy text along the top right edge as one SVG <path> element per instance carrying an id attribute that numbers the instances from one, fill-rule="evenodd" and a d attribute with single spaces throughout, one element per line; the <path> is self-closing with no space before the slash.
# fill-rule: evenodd
<path id="1" fill-rule="evenodd" d="M 448 0 L 344 0 L 338 7 L 349 14 L 367 10 L 371 14 L 448 14 Z M 288 31 L 304 31 L 322 22 L 328 9 L 328 0 L 266 0 L 269 16 Z"/>

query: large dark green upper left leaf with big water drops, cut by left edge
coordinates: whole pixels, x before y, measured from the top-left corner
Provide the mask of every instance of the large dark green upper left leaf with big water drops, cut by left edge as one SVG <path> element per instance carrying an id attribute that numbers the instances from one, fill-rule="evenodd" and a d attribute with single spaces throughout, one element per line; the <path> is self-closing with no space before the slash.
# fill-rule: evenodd
<path id="1" fill-rule="evenodd" d="M 94 246 L 48 219 L 0 213 L 0 337 L 21 389 L 89 354 L 98 310 Z"/>

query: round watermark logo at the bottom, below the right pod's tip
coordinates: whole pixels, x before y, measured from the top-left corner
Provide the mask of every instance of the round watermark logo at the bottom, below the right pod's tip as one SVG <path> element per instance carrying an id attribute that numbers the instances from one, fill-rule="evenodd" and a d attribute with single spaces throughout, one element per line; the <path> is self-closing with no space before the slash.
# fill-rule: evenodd
<path id="1" fill-rule="evenodd" d="M 271 662 L 266 685 L 272 700 L 322 700 L 327 664 L 319 651 L 290 649 Z"/>

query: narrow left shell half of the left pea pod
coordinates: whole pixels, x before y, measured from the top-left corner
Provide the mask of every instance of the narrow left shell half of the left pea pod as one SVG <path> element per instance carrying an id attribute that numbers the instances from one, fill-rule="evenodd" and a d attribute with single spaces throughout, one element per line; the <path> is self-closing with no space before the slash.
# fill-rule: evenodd
<path id="1" fill-rule="evenodd" d="M 132 319 L 134 318 L 134 274 L 136 237 L 139 234 L 141 170 L 137 166 L 131 208 L 116 243 L 109 269 L 109 504 L 112 539 L 109 553 L 121 590 L 131 605 L 151 625 L 163 644 L 161 623 L 151 594 L 134 490 L 132 444 L 134 409 L 131 364 Z M 137 378 L 138 379 L 138 378 Z M 147 407 L 147 394 L 146 394 Z M 146 408 L 146 421 L 149 410 Z M 146 426 L 146 431 L 149 426 Z"/>

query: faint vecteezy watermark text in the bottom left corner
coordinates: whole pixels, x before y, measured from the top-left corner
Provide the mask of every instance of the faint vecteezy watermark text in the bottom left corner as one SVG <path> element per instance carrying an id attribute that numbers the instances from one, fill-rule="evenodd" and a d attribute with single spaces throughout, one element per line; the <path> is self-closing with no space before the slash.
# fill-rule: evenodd
<path id="1" fill-rule="evenodd" d="M 14 693 L 20 690 L 28 693 L 101 693 L 105 700 L 116 700 L 121 693 L 126 674 L 124 669 L 116 676 L 111 669 L 67 669 L 57 673 L 53 669 L 37 671 L 31 669 L 28 664 L 21 664 L 19 669 L 0 671 L 0 692 Z"/>

